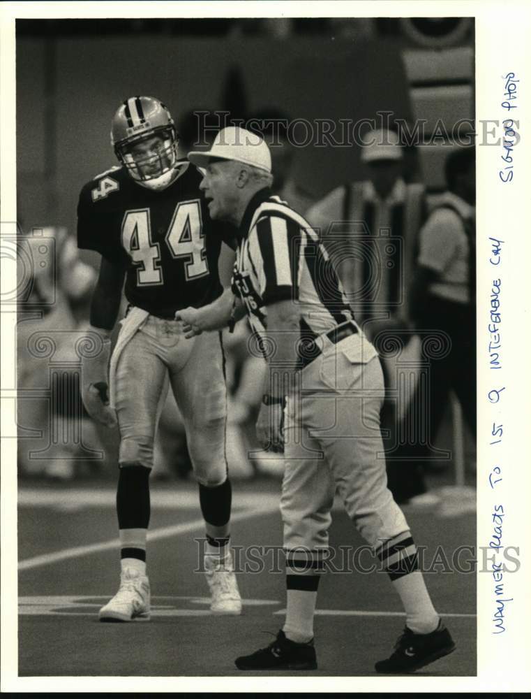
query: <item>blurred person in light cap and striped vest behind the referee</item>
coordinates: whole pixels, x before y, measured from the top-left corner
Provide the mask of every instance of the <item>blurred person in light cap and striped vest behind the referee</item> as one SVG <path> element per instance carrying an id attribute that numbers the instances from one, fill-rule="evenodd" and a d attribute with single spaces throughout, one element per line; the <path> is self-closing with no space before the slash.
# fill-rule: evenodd
<path id="1" fill-rule="evenodd" d="M 380 352 L 386 340 L 396 338 L 404 347 L 401 359 L 407 353 L 414 358 L 418 349 L 417 343 L 410 343 L 405 290 L 424 216 L 424 187 L 406 184 L 403 148 L 394 131 L 375 129 L 366 134 L 361 162 L 368 169 L 368 180 L 337 187 L 311 207 L 306 218 L 320 229 L 368 338 Z M 382 411 L 386 449 L 396 443 L 396 401 L 389 397 L 398 387 L 396 361 L 382 357 L 388 396 Z"/>

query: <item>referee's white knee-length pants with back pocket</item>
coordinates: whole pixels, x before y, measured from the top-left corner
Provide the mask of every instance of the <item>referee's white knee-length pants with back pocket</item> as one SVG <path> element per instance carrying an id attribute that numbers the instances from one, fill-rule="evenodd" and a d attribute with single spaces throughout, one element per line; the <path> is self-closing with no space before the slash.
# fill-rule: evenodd
<path id="1" fill-rule="evenodd" d="M 336 489 L 372 547 L 408 529 L 387 488 L 380 361 L 363 347 L 352 352 L 353 343 L 373 349 L 358 336 L 338 343 L 304 368 L 299 398 L 287 401 L 281 512 L 288 551 L 327 547 Z M 367 363 L 352 361 L 363 354 Z"/>

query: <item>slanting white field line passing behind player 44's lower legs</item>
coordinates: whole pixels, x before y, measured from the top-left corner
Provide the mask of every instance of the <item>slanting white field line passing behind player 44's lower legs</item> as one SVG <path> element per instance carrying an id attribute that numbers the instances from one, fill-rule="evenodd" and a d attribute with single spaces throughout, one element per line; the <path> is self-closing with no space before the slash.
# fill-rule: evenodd
<path id="1" fill-rule="evenodd" d="M 262 506 L 257 510 L 244 510 L 243 512 L 235 512 L 231 521 L 239 521 L 240 519 L 249 519 L 250 517 L 257 517 L 259 514 L 269 514 L 269 512 L 274 512 L 277 509 L 277 505 Z M 179 534 L 186 534 L 189 531 L 194 531 L 195 529 L 202 529 L 204 527 L 203 519 L 194 519 L 193 521 L 184 522 L 183 524 L 174 524 L 173 526 L 161 527 L 159 529 L 153 529 L 147 534 L 148 541 L 156 541 L 158 539 L 167 539 L 170 536 L 177 536 Z M 76 546 L 71 549 L 63 549 L 62 551 L 56 551 L 52 554 L 43 554 L 41 556 L 33 556 L 31 559 L 24 559 L 18 564 L 18 570 L 30 570 L 31 568 L 39 568 L 41 565 L 50 565 L 51 563 L 59 563 L 59 561 L 66 561 L 67 559 L 77 559 L 80 556 L 87 556 L 88 554 L 97 554 L 101 551 L 109 551 L 110 549 L 118 548 L 120 545 L 120 540 L 110 539 L 108 541 L 102 541 L 98 544 L 89 544 L 87 546 Z"/>

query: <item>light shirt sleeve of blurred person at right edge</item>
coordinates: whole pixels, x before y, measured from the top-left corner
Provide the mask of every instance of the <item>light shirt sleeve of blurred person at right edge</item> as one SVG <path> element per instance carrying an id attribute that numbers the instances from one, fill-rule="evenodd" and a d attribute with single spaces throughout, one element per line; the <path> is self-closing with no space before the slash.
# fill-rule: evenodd
<path id="1" fill-rule="evenodd" d="M 442 273 L 454 258 L 459 244 L 461 219 L 449 209 L 440 209 L 428 218 L 420 231 L 417 264 Z"/>

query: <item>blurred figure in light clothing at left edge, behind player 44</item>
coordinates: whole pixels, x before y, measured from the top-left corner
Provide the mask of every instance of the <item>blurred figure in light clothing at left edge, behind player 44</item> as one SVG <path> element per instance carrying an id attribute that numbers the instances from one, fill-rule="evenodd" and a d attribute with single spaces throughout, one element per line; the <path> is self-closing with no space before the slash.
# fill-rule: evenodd
<path id="1" fill-rule="evenodd" d="M 21 236 L 20 250 L 21 261 L 32 263 L 23 271 L 20 285 L 27 293 L 20 298 L 17 324 L 20 473 L 69 480 L 77 464 L 102 449 L 82 407 L 76 373 L 76 342 L 89 322 L 96 273 L 79 259 L 63 228 Z"/>

